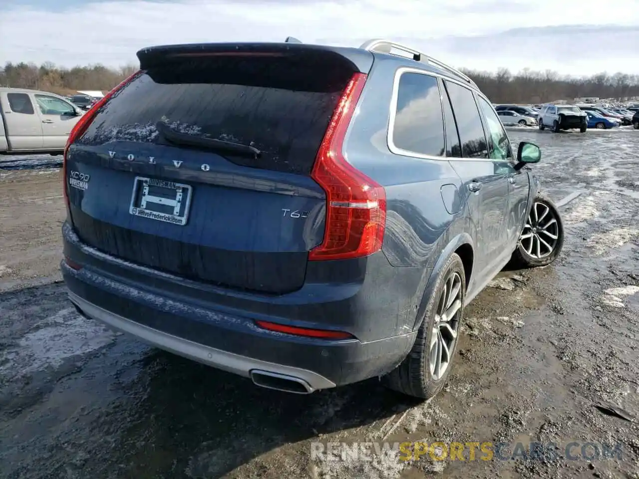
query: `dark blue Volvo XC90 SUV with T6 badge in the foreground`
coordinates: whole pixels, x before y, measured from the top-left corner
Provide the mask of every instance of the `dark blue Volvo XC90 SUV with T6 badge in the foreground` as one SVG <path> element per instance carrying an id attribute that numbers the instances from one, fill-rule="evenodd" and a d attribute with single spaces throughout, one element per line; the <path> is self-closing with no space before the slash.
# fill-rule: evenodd
<path id="1" fill-rule="evenodd" d="M 295 393 L 431 397 L 463 310 L 560 215 L 466 75 L 383 40 L 150 47 L 65 149 L 86 317 Z"/>

